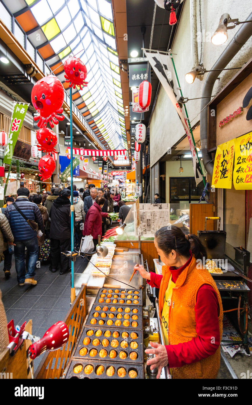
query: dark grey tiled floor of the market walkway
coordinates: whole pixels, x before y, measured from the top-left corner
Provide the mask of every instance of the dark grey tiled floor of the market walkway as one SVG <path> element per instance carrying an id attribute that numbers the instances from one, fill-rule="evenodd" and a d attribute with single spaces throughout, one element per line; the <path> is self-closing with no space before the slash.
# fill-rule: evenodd
<path id="1" fill-rule="evenodd" d="M 87 266 L 86 259 L 77 258 L 75 273 L 83 273 Z M 63 320 L 70 309 L 70 273 L 59 275 L 49 271 L 49 265 L 36 269 L 34 287 L 19 287 L 13 255 L 11 277 L 6 280 L 3 272 L 4 262 L 0 263 L 0 290 L 6 311 L 7 322 L 14 320 L 14 325 L 32 319 L 33 335 L 42 337 L 47 329 L 59 320 Z M 34 370 L 42 357 L 34 360 Z"/>

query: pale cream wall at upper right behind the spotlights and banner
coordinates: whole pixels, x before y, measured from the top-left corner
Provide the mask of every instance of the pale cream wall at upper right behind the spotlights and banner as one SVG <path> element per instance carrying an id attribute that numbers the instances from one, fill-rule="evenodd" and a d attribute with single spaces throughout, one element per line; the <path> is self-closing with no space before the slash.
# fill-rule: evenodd
<path id="1" fill-rule="evenodd" d="M 239 18 L 239 21 L 244 21 L 251 11 L 251 0 L 243 0 L 241 6 L 237 6 L 237 2 L 234 0 L 201 2 L 201 28 L 202 32 L 205 32 L 205 35 L 202 36 L 202 52 L 200 49 L 201 42 L 198 42 L 198 54 L 200 58 L 201 53 L 201 63 L 203 63 L 204 68 L 207 70 L 212 68 L 213 64 L 241 27 L 241 25 L 239 25 L 233 30 L 228 30 L 229 38 L 223 45 L 213 45 L 211 43 L 211 35 L 218 26 L 220 16 L 223 13 L 229 13 L 231 18 Z M 197 0 L 197 31 L 200 32 L 199 0 Z M 205 73 L 203 81 L 195 79 L 194 83 L 191 85 L 186 83 L 184 79 L 186 72 L 190 72 L 193 67 L 191 55 L 190 0 L 184 1 L 184 9 L 174 39 L 172 52 L 174 53 L 174 63 L 183 96 L 188 98 L 201 97 L 204 81 L 208 74 Z M 247 41 L 226 67 L 242 66 L 242 64 L 247 62 L 251 57 L 252 38 Z M 236 72 L 237 70 L 225 70 L 221 72 L 219 75 L 220 80 L 216 80 L 212 94 L 216 95 Z M 200 103 L 201 100 L 192 100 L 186 103 L 186 109 L 192 126 L 200 118 Z M 180 123 L 178 114 L 162 86 L 150 122 L 150 166 L 153 166 L 153 164 L 163 156 L 165 151 L 167 151 L 169 147 L 172 147 L 183 135 L 184 129 Z"/>

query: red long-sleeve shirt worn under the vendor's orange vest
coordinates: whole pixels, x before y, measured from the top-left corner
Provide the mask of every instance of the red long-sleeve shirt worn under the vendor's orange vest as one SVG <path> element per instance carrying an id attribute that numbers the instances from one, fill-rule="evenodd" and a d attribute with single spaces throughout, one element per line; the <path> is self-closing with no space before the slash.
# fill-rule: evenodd
<path id="1" fill-rule="evenodd" d="M 190 261 L 191 258 L 188 262 Z M 180 269 L 170 268 L 174 283 L 188 262 Z M 162 278 L 162 275 L 150 273 L 150 281 L 147 280 L 147 282 L 152 287 L 159 288 Z M 197 337 L 193 337 L 189 342 L 165 346 L 169 367 L 182 367 L 185 364 L 195 363 L 216 352 L 220 345 L 219 311 L 216 292 L 209 284 L 203 284 L 198 290 L 195 305 Z"/>

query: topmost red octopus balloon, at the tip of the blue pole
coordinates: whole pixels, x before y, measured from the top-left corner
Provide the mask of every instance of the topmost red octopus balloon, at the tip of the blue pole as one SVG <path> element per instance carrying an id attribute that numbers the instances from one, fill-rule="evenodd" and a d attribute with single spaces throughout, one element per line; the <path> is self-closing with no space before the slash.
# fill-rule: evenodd
<path id="1" fill-rule="evenodd" d="M 85 81 L 87 68 L 80 58 L 70 56 L 64 63 L 64 70 L 66 82 L 70 83 L 69 87 L 75 89 L 76 86 L 79 86 L 82 89 L 82 86 L 87 86 L 88 81 Z"/>

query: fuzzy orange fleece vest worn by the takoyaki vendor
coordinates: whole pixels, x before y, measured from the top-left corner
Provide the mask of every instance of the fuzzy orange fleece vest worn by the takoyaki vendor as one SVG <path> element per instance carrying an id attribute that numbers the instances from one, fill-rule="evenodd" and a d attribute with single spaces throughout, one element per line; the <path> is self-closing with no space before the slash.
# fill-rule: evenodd
<path id="1" fill-rule="evenodd" d="M 164 296 L 167 289 L 171 271 L 169 266 L 162 267 L 163 279 L 159 290 L 159 310 L 160 317 L 164 305 Z M 197 337 L 195 321 L 195 304 L 199 288 L 203 284 L 210 284 L 218 296 L 220 307 L 219 329 L 220 339 L 222 337 L 223 309 L 220 293 L 216 287 L 214 279 L 206 269 L 196 269 L 196 259 L 193 256 L 191 263 L 180 273 L 176 281 L 171 306 L 169 307 L 169 344 L 178 345 L 191 341 Z M 211 310 L 211 309 L 210 309 Z M 182 367 L 172 369 L 173 378 L 216 378 L 220 368 L 220 347 L 214 354 L 207 358 Z"/>

